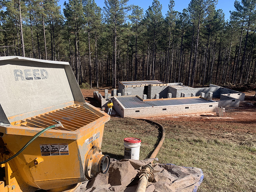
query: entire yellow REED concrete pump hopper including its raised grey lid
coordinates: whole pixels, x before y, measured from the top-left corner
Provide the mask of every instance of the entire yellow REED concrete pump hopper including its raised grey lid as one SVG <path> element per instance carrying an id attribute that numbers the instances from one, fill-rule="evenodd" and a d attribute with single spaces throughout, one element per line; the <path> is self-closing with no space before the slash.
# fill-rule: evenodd
<path id="1" fill-rule="evenodd" d="M 110 117 L 84 101 L 68 62 L 0 57 L 0 90 L 1 192 L 64 191 L 108 171 Z"/>

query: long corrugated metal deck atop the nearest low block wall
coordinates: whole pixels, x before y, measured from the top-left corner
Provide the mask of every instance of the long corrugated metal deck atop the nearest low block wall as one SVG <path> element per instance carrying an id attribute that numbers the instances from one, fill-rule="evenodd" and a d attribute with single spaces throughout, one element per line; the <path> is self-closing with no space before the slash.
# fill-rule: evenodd
<path id="1" fill-rule="evenodd" d="M 201 98 L 184 98 L 184 99 L 170 99 L 170 100 L 149 100 L 142 101 L 138 97 L 119 97 L 117 100 L 124 106 L 124 108 L 141 108 L 141 107 L 157 107 L 168 105 L 189 105 L 198 103 L 212 103 L 215 101 L 204 100 Z"/>

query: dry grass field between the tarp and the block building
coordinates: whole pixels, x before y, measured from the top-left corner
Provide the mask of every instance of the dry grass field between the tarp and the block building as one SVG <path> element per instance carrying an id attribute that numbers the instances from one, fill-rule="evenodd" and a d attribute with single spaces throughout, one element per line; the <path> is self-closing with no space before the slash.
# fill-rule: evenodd
<path id="1" fill-rule="evenodd" d="M 255 130 L 255 123 L 157 122 L 166 132 L 157 155 L 159 163 L 201 168 L 204 181 L 199 192 L 256 192 L 256 134 L 247 131 Z M 105 124 L 102 151 L 112 158 L 122 159 L 123 139 L 137 137 L 142 140 L 140 159 L 145 159 L 154 150 L 157 136 L 154 125 L 111 117 Z"/>

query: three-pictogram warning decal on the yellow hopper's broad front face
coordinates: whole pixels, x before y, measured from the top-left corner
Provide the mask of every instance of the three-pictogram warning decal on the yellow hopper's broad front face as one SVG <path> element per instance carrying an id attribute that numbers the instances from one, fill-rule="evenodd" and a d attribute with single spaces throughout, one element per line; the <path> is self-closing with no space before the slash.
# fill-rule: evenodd
<path id="1" fill-rule="evenodd" d="M 69 155 L 68 143 L 40 144 L 42 156 Z"/>

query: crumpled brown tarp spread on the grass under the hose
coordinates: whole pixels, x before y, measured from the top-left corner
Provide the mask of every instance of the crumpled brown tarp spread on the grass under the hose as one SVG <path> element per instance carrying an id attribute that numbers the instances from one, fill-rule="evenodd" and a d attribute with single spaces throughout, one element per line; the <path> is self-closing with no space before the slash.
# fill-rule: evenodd
<path id="1" fill-rule="evenodd" d="M 129 184 L 141 166 L 149 164 L 152 160 L 112 161 L 108 173 L 98 174 L 94 179 L 83 183 L 76 192 L 134 192 L 138 184 Z M 152 167 L 154 180 L 148 183 L 146 192 L 196 192 L 204 178 L 199 168 L 173 164 L 153 164 Z"/>

